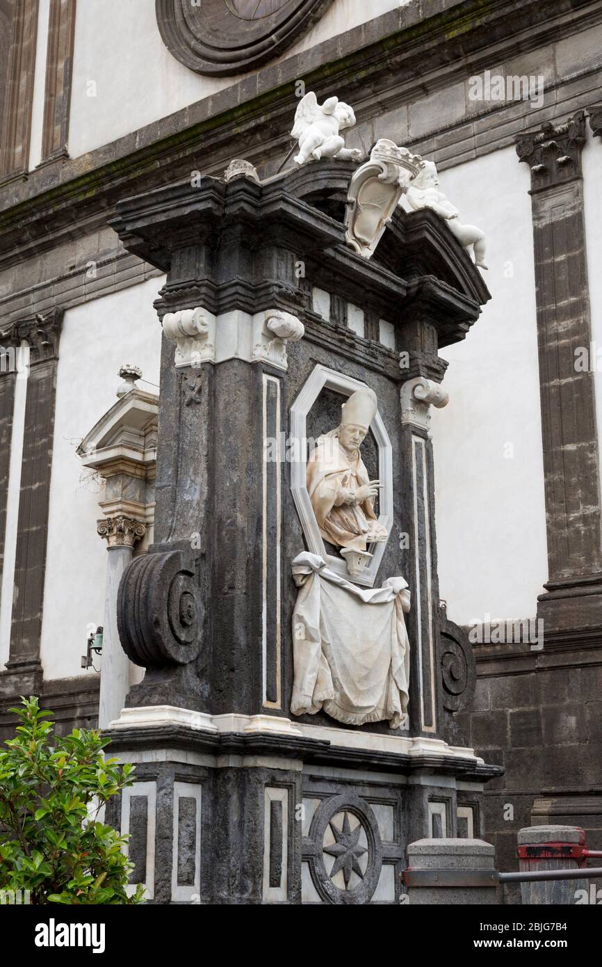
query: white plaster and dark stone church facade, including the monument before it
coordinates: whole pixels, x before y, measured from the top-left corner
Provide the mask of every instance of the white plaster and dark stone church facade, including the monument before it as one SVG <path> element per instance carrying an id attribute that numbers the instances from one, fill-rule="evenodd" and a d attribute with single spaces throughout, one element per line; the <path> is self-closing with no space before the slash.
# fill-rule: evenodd
<path id="1" fill-rule="evenodd" d="M 136 763 L 155 902 L 602 848 L 601 39 L 0 3 L 0 728 L 40 694 Z"/>

